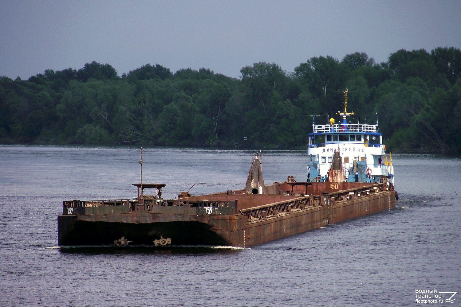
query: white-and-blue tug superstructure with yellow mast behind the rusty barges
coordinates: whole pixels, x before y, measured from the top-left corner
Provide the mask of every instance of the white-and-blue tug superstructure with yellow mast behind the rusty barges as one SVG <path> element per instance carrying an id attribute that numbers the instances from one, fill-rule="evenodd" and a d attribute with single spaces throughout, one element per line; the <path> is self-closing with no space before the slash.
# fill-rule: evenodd
<path id="1" fill-rule="evenodd" d="M 386 155 L 383 137 L 378 131 L 378 117 L 374 125 L 348 123 L 347 117 L 355 113 L 347 112 L 347 92 L 343 91 L 344 111 L 337 112 L 343 117 L 340 124 L 335 124 L 331 118 L 329 124 L 315 125 L 314 121 L 312 125 L 307 145 L 310 160 L 307 181 L 331 181 L 328 171 L 337 151 L 344 171 L 342 181 L 393 183 L 392 154 L 389 158 Z"/>

